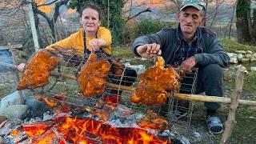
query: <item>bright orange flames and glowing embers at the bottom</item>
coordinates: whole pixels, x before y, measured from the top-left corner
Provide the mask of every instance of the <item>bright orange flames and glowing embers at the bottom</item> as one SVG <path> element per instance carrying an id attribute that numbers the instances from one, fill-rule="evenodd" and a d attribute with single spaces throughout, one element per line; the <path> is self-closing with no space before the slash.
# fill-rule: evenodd
<path id="1" fill-rule="evenodd" d="M 46 126 L 47 127 L 47 126 Z M 34 127 L 33 127 L 34 128 Z M 38 129 L 41 129 L 38 127 Z M 91 118 L 58 119 L 49 130 L 38 136 L 38 129 L 30 129 L 29 134 L 35 134 L 33 143 L 171 143 L 162 138 L 148 134 L 138 128 L 117 128 Z M 28 129 L 23 129 L 28 134 Z M 31 131 L 32 130 L 32 131 Z"/>

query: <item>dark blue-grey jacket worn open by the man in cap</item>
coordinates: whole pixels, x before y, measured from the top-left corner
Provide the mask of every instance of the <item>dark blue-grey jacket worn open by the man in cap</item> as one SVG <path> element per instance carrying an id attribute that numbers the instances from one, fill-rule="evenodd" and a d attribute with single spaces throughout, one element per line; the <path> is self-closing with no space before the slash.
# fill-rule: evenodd
<path id="1" fill-rule="evenodd" d="M 176 29 L 164 28 L 156 34 L 136 38 L 133 44 L 134 54 L 138 55 L 136 51 L 138 46 L 155 42 L 161 46 L 162 57 L 166 63 L 170 64 L 174 60 L 175 51 L 181 45 L 181 39 L 178 37 L 179 31 L 181 31 L 179 26 Z M 198 49 L 202 50 L 201 54 L 194 54 L 196 63 L 200 66 L 218 64 L 219 66 L 225 67 L 230 61 L 230 58 L 223 50 L 223 46 L 217 35 L 205 27 L 198 27 L 195 34 L 198 37 Z"/>

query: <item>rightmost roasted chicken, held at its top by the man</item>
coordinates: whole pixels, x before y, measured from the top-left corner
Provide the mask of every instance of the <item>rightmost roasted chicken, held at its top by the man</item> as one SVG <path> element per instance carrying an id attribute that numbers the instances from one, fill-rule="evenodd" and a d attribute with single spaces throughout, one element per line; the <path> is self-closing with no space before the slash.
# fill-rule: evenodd
<path id="1" fill-rule="evenodd" d="M 164 59 L 158 56 L 155 66 L 140 75 L 137 90 L 130 98 L 132 102 L 148 106 L 160 105 L 166 102 L 167 92 L 178 90 L 177 71 L 172 67 L 164 66 Z"/>

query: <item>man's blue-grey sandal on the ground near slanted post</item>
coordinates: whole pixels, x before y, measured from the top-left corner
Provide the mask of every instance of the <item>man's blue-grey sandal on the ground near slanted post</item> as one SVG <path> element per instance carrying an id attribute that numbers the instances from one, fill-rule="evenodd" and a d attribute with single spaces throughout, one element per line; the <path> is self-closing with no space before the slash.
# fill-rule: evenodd
<path id="1" fill-rule="evenodd" d="M 223 132 L 223 124 L 216 116 L 206 117 L 206 125 L 211 134 L 222 134 Z"/>

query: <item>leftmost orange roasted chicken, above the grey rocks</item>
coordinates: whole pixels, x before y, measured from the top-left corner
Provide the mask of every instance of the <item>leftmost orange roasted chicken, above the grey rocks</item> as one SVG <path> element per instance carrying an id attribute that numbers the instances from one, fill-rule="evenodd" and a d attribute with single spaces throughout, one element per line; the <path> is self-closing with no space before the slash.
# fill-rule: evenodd
<path id="1" fill-rule="evenodd" d="M 38 50 L 38 53 L 30 59 L 22 78 L 18 82 L 18 90 L 34 89 L 45 86 L 48 82 L 50 71 L 58 65 L 58 58 L 52 56 L 46 50 Z"/>

